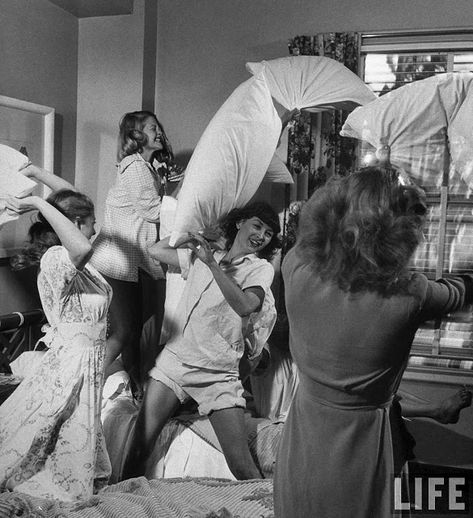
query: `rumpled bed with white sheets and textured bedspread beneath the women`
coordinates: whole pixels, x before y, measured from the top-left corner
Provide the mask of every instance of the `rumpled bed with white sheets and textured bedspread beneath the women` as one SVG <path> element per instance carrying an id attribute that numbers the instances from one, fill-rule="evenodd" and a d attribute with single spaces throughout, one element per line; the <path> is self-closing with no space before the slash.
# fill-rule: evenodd
<path id="1" fill-rule="evenodd" d="M 37 356 L 37 355 L 36 355 Z M 13 362 L 14 374 L 0 375 L 0 395 L 21 381 L 26 362 Z M 20 371 L 16 369 L 20 367 Z M 285 380 L 285 382 L 283 382 Z M 146 478 L 120 481 L 138 407 L 122 370 L 105 383 L 102 421 L 111 463 L 111 485 L 87 501 L 72 504 L 37 499 L 21 493 L 0 495 L 0 517 L 208 517 L 270 518 L 272 474 L 291 391 L 297 385 L 292 362 L 278 352 L 271 368 L 253 379 L 253 412 L 246 415 L 250 450 L 265 479 L 236 481 L 229 471 L 210 422 L 192 412 L 171 419 L 150 457 Z M 267 390 L 279 386 L 281 390 Z M 265 417 L 254 417 L 264 412 Z"/>

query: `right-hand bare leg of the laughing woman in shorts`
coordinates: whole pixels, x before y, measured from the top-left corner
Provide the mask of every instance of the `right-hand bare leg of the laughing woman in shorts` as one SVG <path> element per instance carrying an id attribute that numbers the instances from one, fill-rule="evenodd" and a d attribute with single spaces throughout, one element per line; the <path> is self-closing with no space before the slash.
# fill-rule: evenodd
<path id="1" fill-rule="evenodd" d="M 251 456 L 243 408 L 215 410 L 209 415 L 230 471 L 237 480 L 262 478 Z"/>

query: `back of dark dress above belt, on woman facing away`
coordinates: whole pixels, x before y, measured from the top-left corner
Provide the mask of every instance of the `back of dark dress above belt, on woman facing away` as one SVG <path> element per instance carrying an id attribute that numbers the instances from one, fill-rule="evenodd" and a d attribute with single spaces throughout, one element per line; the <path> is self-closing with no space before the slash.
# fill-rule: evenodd
<path id="1" fill-rule="evenodd" d="M 386 401 L 409 353 L 421 295 L 344 292 L 315 276 L 296 251 L 286 256 L 283 274 L 301 374 L 366 404 Z"/>

